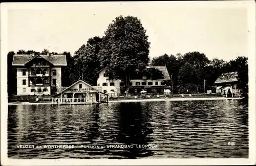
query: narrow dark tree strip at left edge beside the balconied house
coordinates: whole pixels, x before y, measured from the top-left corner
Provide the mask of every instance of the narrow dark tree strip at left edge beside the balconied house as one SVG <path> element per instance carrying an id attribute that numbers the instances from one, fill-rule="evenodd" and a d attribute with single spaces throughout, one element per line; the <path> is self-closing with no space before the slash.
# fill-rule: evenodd
<path id="1" fill-rule="evenodd" d="M 15 53 L 9 52 L 7 55 L 7 93 L 8 96 L 16 93 L 16 69 L 12 66 L 12 61 Z"/>

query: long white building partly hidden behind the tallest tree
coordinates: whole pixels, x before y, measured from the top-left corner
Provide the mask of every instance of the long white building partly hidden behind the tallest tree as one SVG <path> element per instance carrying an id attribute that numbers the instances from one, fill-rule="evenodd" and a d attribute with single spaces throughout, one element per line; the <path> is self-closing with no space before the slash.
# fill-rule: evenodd
<path id="1" fill-rule="evenodd" d="M 169 88 L 164 81 L 170 80 L 168 70 L 165 66 L 147 66 L 154 67 L 163 73 L 163 79 L 151 80 L 146 77 L 141 79 L 131 80 L 129 85 L 129 93 L 136 94 L 141 90 L 146 90 L 148 93 L 162 94 L 165 88 Z M 121 80 L 115 80 L 108 77 L 105 69 L 101 69 L 97 80 L 97 89 L 103 93 L 111 93 L 114 91 L 117 94 L 125 92 L 124 83 Z"/>

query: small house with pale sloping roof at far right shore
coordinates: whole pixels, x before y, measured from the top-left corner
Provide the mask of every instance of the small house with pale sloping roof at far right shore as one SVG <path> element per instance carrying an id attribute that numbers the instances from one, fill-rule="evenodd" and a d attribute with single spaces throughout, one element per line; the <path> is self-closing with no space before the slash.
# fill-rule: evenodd
<path id="1" fill-rule="evenodd" d="M 225 93 L 228 89 L 232 93 L 240 93 L 241 89 L 237 88 L 238 72 L 223 73 L 216 81 L 216 93 Z"/>

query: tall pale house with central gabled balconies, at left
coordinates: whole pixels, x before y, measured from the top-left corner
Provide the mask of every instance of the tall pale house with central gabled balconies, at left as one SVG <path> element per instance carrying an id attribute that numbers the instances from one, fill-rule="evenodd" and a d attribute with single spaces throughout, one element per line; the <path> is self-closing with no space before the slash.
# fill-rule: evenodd
<path id="1" fill-rule="evenodd" d="M 15 55 L 17 96 L 54 94 L 61 88 L 61 67 L 66 55 Z"/>

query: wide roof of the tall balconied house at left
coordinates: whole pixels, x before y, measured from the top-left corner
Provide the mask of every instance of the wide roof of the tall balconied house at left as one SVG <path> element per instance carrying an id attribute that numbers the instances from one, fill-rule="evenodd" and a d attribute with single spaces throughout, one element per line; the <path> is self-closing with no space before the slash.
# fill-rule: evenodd
<path id="1" fill-rule="evenodd" d="M 27 62 L 31 61 L 32 59 L 38 56 L 46 59 L 55 66 L 67 66 L 66 55 L 14 55 L 12 65 L 24 66 Z"/>

